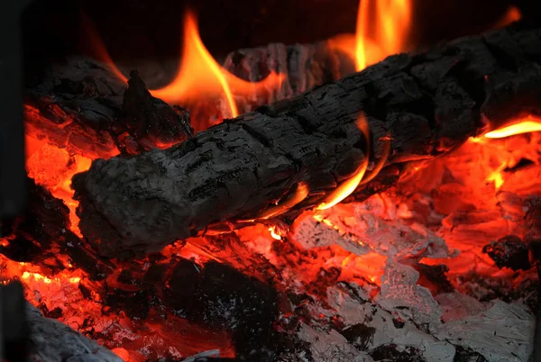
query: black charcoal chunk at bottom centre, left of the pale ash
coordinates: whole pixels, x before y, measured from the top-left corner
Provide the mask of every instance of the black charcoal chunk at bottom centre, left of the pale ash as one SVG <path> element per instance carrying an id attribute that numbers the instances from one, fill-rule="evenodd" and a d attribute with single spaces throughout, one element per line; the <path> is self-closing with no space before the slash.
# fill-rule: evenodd
<path id="1" fill-rule="evenodd" d="M 199 266 L 184 258 L 166 285 L 165 305 L 189 321 L 231 330 L 237 353 L 274 348 L 272 323 L 278 318 L 279 296 L 271 285 L 223 263 Z"/>

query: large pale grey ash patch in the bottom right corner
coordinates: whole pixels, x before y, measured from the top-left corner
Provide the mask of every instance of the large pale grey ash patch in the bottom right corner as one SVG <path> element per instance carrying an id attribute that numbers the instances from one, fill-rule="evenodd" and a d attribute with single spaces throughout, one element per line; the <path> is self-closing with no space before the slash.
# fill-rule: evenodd
<path id="1" fill-rule="evenodd" d="M 411 278 L 408 266 L 405 267 L 409 282 L 413 282 L 415 278 Z M 390 280 L 397 281 L 397 278 Z M 436 298 L 442 303 L 440 307 L 431 295 L 418 294 L 418 290 L 413 294 L 419 298 L 417 303 L 427 300 L 435 311 L 432 315 L 411 313 L 410 320 L 396 323 L 400 316 L 396 306 L 389 305 L 386 298 L 376 297 L 370 302 L 368 294 L 359 285 L 339 283 L 327 290 L 328 307 L 316 302 L 308 305 L 314 315 L 324 318 L 312 321 L 310 325 L 302 324 L 298 336 L 309 343 L 310 352 L 317 361 L 368 362 L 378 348 L 395 348 L 397 351 L 413 348 L 421 359 L 441 362 L 453 362 L 458 346 L 479 353 L 489 362 L 526 362 L 531 355 L 535 321 L 523 304 L 473 302 L 470 297 L 454 293 L 440 294 Z M 450 308 L 460 303 L 471 305 L 463 305 L 458 312 L 449 313 Z M 444 310 L 443 322 L 436 322 L 439 309 Z M 342 331 L 329 327 L 326 322 L 337 315 L 346 323 Z M 414 322 L 419 316 L 421 320 L 432 318 L 430 328 Z M 344 332 L 360 324 L 370 333 L 348 341 Z"/>

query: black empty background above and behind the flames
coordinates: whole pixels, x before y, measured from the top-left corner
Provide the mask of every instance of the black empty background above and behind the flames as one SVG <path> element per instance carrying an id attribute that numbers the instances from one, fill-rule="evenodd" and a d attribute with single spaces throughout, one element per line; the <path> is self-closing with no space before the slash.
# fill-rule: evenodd
<path id="1" fill-rule="evenodd" d="M 372 0 L 374 1 L 374 0 Z M 541 19 L 536 0 L 414 0 L 413 38 L 421 47 L 482 32 L 521 7 Z M 269 42 L 321 41 L 354 32 L 358 0 L 34 0 L 23 14 L 28 74 L 67 54 L 88 53 L 85 14 L 115 61 L 178 58 L 185 9 L 199 17 L 203 42 L 216 58 Z"/>

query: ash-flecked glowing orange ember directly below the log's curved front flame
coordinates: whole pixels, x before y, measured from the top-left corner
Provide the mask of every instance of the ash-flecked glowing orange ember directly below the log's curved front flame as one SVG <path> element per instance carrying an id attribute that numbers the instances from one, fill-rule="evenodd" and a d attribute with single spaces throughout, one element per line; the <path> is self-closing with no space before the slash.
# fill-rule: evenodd
<path id="1" fill-rule="evenodd" d="M 356 255 L 370 251 L 396 258 L 445 258 L 445 240 L 433 231 L 397 216 L 397 206 L 380 195 L 364 203 L 298 216 L 290 235 L 305 249 L 339 245 Z M 323 222 L 319 222 L 322 220 Z"/>

